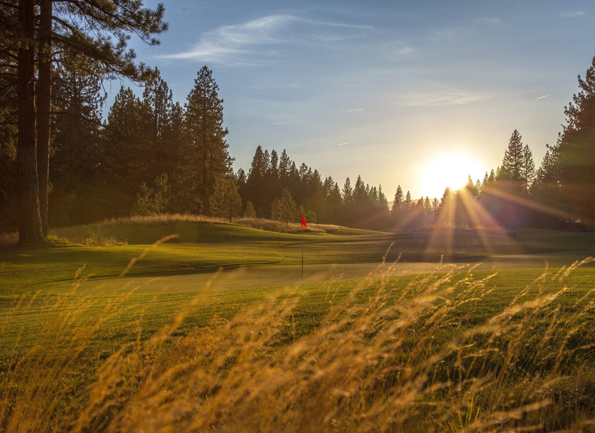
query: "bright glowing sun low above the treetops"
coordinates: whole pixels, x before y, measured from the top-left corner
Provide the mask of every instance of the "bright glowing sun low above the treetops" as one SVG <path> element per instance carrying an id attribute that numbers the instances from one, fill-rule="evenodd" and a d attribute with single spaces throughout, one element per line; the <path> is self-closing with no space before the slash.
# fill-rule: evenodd
<path id="1" fill-rule="evenodd" d="M 431 160 L 423 170 L 422 185 L 425 194 L 441 196 L 444 188 L 456 190 L 467 183 L 467 178 L 481 172 L 480 165 L 468 155 L 442 155 Z"/>

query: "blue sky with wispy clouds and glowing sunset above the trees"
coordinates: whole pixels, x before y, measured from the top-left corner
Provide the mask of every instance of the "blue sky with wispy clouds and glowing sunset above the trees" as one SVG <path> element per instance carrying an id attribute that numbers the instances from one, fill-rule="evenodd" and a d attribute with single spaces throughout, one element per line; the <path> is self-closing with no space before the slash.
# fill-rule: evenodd
<path id="1" fill-rule="evenodd" d="M 538 166 L 595 55 L 593 1 L 164 4 L 161 45 L 130 46 L 181 103 L 213 71 L 234 170 L 258 145 L 286 149 L 389 200 L 399 184 L 416 199 L 483 178 L 515 129 Z"/>

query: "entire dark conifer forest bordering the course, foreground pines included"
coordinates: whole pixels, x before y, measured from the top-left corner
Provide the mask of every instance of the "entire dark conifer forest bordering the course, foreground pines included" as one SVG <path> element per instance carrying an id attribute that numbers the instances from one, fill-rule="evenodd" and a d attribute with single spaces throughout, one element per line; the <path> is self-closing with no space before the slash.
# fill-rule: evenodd
<path id="1" fill-rule="evenodd" d="M 284 149 L 258 146 L 250 167 L 234 172 L 212 71 L 201 68 L 175 102 L 159 70 L 127 49 L 131 35 L 157 45 L 163 16 L 162 5 L 133 0 L 0 5 L 0 231 L 18 230 L 27 244 L 48 225 L 161 212 L 286 221 L 303 212 L 376 229 L 594 225 L 595 58 L 540 167 L 515 130 L 483 179 L 419 199 L 399 186 L 389 203 L 380 185 L 359 176 L 339 183 Z M 121 86 L 104 113 L 104 86 L 116 79 L 142 86 L 142 96 Z"/>

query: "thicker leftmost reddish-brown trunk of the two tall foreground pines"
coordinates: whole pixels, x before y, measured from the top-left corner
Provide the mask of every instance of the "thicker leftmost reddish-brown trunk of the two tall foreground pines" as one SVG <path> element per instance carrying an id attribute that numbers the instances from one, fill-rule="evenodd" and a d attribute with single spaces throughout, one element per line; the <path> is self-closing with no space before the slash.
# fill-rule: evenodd
<path id="1" fill-rule="evenodd" d="M 33 0 L 20 0 L 18 22 L 21 45 L 18 48 L 18 245 L 27 246 L 42 239 L 37 187 L 35 149 L 35 7 Z"/>

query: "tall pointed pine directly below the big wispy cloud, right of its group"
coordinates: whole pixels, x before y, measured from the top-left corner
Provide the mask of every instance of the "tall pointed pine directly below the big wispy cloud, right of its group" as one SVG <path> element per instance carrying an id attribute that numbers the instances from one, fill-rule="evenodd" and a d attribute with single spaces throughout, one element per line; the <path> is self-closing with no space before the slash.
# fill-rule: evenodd
<path id="1" fill-rule="evenodd" d="M 231 158 L 223 128 L 223 99 L 212 71 L 203 66 L 194 80 L 195 86 L 187 97 L 184 133 L 186 150 L 187 192 L 195 195 L 202 211 L 208 213 L 209 196 L 216 178 L 228 174 Z"/>

